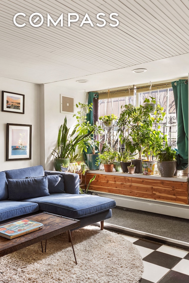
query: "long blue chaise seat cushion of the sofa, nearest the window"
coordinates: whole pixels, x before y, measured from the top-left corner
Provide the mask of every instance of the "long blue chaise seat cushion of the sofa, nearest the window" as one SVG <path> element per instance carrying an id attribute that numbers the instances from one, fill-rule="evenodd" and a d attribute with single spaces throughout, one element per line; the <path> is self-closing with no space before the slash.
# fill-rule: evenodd
<path id="1" fill-rule="evenodd" d="M 115 200 L 96 195 L 53 194 L 23 201 L 36 202 L 39 209 L 71 218 L 81 218 L 115 207 Z"/>

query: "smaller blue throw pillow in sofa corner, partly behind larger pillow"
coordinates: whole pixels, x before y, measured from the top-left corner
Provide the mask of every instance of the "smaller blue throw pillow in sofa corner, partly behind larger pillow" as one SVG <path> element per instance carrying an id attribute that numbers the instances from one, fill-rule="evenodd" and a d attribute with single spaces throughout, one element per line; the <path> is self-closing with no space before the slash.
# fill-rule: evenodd
<path id="1" fill-rule="evenodd" d="M 48 175 L 48 190 L 50 194 L 65 193 L 63 175 Z"/>

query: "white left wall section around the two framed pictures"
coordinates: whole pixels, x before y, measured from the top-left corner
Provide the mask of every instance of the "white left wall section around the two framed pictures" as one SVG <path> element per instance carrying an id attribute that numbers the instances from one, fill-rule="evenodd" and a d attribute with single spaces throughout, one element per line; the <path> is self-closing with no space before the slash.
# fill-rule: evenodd
<path id="1" fill-rule="evenodd" d="M 39 85 L 0 77 L 0 91 L 25 95 L 25 114 L 1 111 L 0 99 L 0 171 L 40 164 Z M 6 124 L 32 125 L 32 159 L 6 161 Z"/>

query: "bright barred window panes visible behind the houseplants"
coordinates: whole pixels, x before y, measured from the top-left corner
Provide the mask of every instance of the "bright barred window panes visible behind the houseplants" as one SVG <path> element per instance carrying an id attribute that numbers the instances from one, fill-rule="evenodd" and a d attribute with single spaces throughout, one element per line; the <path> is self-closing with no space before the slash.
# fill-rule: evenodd
<path id="1" fill-rule="evenodd" d="M 168 145 L 176 147 L 177 139 L 177 119 L 176 119 L 176 110 L 175 110 L 175 101 L 173 96 L 172 88 L 162 88 L 155 91 L 151 91 L 151 96 L 156 98 L 156 101 L 164 108 L 166 115 L 162 123 L 160 124 L 163 134 L 167 134 Z M 133 96 L 125 97 L 116 97 L 116 98 L 107 98 L 100 99 L 99 95 L 99 116 L 105 116 L 109 114 L 114 114 L 119 117 L 121 112 L 121 106 L 131 103 L 134 106 L 144 104 L 143 101 L 145 98 L 149 98 L 149 91 L 141 92 L 134 91 Z M 108 110 L 108 111 L 107 111 Z M 102 122 L 100 122 L 102 124 Z M 124 149 L 124 145 L 119 142 L 118 136 L 118 126 L 117 122 L 112 127 L 104 128 L 105 134 L 102 136 L 101 144 L 105 141 L 111 145 L 114 150 L 118 148 Z"/>

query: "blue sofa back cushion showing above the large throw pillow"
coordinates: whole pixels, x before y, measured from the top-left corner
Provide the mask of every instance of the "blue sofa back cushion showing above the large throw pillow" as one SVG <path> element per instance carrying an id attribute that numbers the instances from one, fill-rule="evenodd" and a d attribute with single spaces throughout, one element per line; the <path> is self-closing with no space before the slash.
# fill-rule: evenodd
<path id="1" fill-rule="evenodd" d="M 26 177 L 44 176 L 42 165 L 32 166 L 22 169 L 14 169 L 5 171 L 7 179 L 23 179 Z"/>

